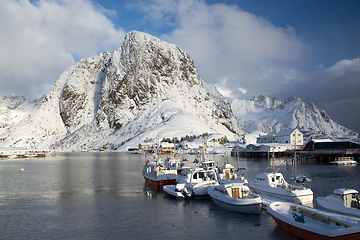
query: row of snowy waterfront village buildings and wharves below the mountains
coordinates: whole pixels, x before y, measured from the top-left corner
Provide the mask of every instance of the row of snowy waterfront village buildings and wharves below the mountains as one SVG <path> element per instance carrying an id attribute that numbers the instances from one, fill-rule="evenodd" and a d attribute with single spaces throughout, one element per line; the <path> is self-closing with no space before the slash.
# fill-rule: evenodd
<path id="1" fill-rule="evenodd" d="M 204 141 L 204 140 L 203 140 Z M 205 144 L 197 141 L 192 144 L 159 142 L 153 145 L 140 143 L 138 148 L 129 148 L 127 153 L 151 153 L 155 148 L 161 154 L 187 153 L 198 154 L 206 148 L 208 154 L 231 154 L 239 157 L 269 158 L 290 156 L 297 153 L 297 157 L 307 160 L 331 162 L 339 157 L 349 157 L 359 160 L 360 144 L 343 139 L 310 139 L 304 142 L 304 135 L 298 129 L 285 129 L 276 134 L 259 135 L 256 143 L 246 144 L 246 141 L 228 141 L 221 144 L 214 139 L 205 140 Z M 223 147 L 221 147 L 223 145 Z M 217 150 L 215 150 L 215 148 Z"/>

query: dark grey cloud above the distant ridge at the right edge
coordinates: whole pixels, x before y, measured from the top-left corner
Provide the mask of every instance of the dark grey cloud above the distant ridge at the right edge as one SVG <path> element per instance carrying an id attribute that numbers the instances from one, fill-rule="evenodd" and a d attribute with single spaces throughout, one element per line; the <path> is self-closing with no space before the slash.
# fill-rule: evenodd
<path id="1" fill-rule="evenodd" d="M 360 133 L 360 59 L 342 60 L 334 66 L 304 75 L 302 80 L 271 93 L 280 99 L 295 96 L 325 110 L 331 119 Z"/>

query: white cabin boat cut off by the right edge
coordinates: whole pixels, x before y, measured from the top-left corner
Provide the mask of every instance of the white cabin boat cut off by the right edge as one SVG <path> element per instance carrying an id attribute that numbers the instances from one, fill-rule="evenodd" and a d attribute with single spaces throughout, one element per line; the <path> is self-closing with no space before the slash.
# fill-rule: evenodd
<path id="1" fill-rule="evenodd" d="M 333 194 L 316 201 L 325 210 L 360 218 L 360 197 L 355 189 L 335 189 Z"/>

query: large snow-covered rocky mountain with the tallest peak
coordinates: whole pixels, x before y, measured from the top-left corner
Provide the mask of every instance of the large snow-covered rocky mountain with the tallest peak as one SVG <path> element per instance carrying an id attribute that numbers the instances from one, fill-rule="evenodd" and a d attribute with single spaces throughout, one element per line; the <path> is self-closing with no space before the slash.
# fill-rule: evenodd
<path id="1" fill-rule="evenodd" d="M 1 138 L 5 146 L 79 151 L 205 132 L 244 134 L 225 98 L 204 84 L 186 52 L 132 31 L 114 52 L 69 67 L 39 106 L 26 109 L 28 116 L 8 121 Z"/>

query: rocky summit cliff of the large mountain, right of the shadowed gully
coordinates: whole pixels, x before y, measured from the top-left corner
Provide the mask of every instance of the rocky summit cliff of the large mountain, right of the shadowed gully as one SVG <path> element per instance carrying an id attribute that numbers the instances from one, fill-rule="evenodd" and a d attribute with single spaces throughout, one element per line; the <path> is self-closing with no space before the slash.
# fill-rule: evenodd
<path id="1" fill-rule="evenodd" d="M 201 89 L 195 93 L 198 101 L 208 96 L 186 52 L 149 34 L 132 31 L 112 54 L 96 119 L 104 128 L 119 129 L 143 106 L 171 99 L 174 91 L 185 95 L 194 86 Z"/>

